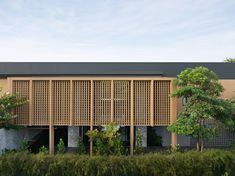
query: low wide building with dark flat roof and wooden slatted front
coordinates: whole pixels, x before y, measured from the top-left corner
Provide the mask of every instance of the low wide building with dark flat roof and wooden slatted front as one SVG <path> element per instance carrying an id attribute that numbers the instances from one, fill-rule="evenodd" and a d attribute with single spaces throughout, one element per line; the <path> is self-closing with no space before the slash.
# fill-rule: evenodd
<path id="1" fill-rule="evenodd" d="M 16 109 L 15 120 L 27 128 L 17 132 L 1 129 L 0 149 L 14 148 L 23 137 L 35 139 L 46 130 L 44 136 L 53 153 L 58 135 L 65 133 L 68 147 L 75 147 L 84 129 L 110 122 L 128 127 L 132 154 L 135 128 L 142 131 L 144 146 L 147 127 L 154 127 L 162 136 L 163 146 L 191 146 L 190 138 L 171 134 L 166 127 L 183 106 L 181 99 L 169 97 L 176 88 L 173 80 L 185 68 L 196 66 L 205 66 L 218 75 L 225 87 L 223 98 L 235 95 L 233 63 L 0 63 L 3 92 L 29 99 Z M 63 129 L 61 134 L 59 129 Z M 221 134 L 207 145 L 228 146 L 235 139 L 229 131 Z"/>

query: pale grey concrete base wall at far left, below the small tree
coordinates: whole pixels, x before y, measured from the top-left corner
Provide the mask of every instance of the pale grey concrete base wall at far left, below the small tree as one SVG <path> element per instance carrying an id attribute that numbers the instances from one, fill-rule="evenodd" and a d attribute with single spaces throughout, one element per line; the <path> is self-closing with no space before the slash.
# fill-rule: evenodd
<path id="1" fill-rule="evenodd" d="M 19 130 L 5 130 L 0 129 L 0 152 L 4 149 L 17 149 L 21 141 L 26 138 L 27 140 L 33 138 L 41 130 L 33 129 L 19 129 Z"/>

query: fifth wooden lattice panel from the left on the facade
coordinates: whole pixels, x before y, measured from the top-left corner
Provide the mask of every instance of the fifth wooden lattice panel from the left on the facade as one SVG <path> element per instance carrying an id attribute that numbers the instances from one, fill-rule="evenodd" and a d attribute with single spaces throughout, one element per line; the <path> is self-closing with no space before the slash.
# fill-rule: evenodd
<path id="1" fill-rule="evenodd" d="M 111 81 L 94 81 L 94 125 L 111 122 Z"/>

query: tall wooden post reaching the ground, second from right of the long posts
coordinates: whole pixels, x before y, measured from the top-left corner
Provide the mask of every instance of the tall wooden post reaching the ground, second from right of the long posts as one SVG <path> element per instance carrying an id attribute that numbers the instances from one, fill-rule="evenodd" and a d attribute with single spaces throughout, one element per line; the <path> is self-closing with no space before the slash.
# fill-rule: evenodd
<path id="1" fill-rule="evenodd" d="M 130 125 L 130 155 L 134 155 L 134 88 L 131 80 L 131 125 Z"/>

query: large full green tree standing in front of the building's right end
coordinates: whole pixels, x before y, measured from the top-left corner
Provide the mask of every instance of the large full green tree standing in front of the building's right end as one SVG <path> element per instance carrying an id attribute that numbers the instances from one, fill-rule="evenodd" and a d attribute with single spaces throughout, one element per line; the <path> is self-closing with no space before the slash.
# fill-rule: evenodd
<path id="1" fill-rule="evenodd" d="M 178 89 L 171 96 L 184 97 L 187 103 L 169 131 L 196 139 L 197 150 L 202 151 L 204 140 L 212 139 L 219 125 L 235 127 L 234 105 L 220 98 L 223 87 L 213 71 L 205 67 L 187 68 L 177 76 L 175 84 Z"/>

